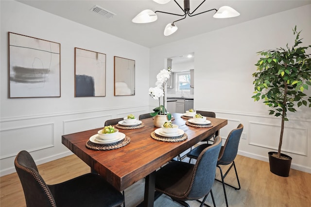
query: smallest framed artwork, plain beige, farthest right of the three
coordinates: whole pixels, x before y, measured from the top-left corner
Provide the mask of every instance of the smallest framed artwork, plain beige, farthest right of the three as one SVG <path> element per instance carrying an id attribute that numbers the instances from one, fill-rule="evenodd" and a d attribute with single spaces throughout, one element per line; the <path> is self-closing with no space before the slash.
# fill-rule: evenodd
<path id="1" fill-rule="evenodd" d="M 114 95 L 135 95 L 135 61 L 114 56 Z"/>

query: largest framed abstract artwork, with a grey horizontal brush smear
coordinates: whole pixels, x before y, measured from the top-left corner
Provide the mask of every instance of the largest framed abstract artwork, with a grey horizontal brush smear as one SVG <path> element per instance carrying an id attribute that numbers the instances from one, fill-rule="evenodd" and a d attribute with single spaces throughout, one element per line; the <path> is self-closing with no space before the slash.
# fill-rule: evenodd
<path id="1" fill-rule="evenodd" d="M 60 97 L 60 44 L 9 32 L 9 97 Z"/>

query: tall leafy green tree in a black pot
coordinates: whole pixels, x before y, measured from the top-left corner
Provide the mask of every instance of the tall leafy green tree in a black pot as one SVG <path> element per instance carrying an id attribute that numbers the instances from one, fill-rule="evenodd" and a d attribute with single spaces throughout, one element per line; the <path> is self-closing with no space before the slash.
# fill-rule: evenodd
<path id="1" fill-rule="evenodd" d="M 311 97 L 304 93 L 311 86 L 311 58 L 306 50 L 300 47 L 300 32 L 293 29 L 296 35 L 292 48 L 268 49 L 258 52 L 261 55 L 257 64 L 255 78 L 254 101 L 263 100 L 270 107 L 269 114 L 281 117 L 281 132 L 278 150 L 269 152 L 270 171 L 276 175 L 289 176 L 292 158 L 281 153 L 284 122 L 288 121 L 287 112 L 295 112 L 295 107 L 311 107 Z M 308 103 L 309 102 L 309 103 Z M 280 162 L 281 165 L 276 165 Z"/>

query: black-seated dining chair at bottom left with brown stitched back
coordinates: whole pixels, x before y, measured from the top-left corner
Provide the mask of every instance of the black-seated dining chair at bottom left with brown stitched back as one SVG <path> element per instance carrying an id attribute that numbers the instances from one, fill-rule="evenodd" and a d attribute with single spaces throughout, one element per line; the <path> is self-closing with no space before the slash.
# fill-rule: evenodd
<path id="1" fill-rule="evenodd" d="M 124 203 L 122 193 L 100 175 L 88 173 L 48 185 L 27 151 L 20 151 L 14 164 L 27 207 L 117 207 Z"/>

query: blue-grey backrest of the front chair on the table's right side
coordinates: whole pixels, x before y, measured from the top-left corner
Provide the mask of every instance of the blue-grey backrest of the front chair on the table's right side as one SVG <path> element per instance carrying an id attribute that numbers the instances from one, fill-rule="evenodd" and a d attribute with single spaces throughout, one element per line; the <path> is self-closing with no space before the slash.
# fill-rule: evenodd
<path id="1" fill-rule="evenodd" d="M 214 184 L 217 159 L 222 146 L 222 138 L 217 136 L 214 143 L 199 155 L 191 177 L 188 198 L 202 198 L 208 194 Z"/>

